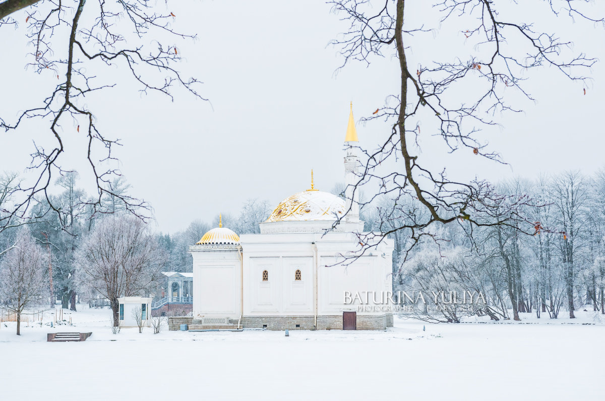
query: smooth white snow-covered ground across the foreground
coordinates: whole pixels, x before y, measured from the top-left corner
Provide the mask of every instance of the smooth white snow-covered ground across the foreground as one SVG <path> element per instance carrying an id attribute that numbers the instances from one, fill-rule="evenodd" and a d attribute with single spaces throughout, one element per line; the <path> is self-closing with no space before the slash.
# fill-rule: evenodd
<path id="1" fill-rule="evenodd" d="M 15 323 L 2 323 L 0 400 L 605 399 L 605 319 L 592 311 L 539 323 L 533 315 L 500 323 L 396 319 L 386 331 L 285 337 L 149 328 L 114 335 L 110 310 L 79 307 L 73 327 L 22 324 L 16 336 Z M 93 335 L 46 342 L 57 331 Z"/>

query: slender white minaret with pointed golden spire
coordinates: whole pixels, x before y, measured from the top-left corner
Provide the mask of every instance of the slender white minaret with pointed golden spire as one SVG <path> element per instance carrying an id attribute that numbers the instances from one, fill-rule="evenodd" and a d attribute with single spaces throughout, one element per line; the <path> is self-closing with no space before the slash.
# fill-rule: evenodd
<path id="1" fill-rule="evenodd" d="M 353 119 L 353 102 L 351 102 L 351 111 L 348 114 L 347 135 L 344 138 L 345 157 L 345 198 L 347 198 L 347 210 L 349 210 L 346 221 L 351 223 L 359 222 L 359 187 L 356 189 L 355 184 L 359 181 L 359 156 L 355 147 L 359 145 L 357 139 L 357 130 L 355 129 L 355 119 Z M 353 194 L 355 189 L 355 194 Z"/>

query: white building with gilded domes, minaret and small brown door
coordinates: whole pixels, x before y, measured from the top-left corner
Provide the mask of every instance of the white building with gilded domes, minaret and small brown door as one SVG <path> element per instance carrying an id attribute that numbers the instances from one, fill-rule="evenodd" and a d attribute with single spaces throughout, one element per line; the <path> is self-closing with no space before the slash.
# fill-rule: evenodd
<path id="1" fill-rule="evenodd" d="M 260 223 L 260 233 L 238 235 L 219 224 L 189 247 L 194 275 L 190 330 L 382 330 L 393 325 L 384 303 L 393 289 L 393 240 L 360 253 L 364 222 L 359 221 L 358 191 L 353 195 L 350 186 L 359 180 L 357 143 L 351 109 L 346 200 L 316 190 L 312 180 L 310 189 L 275 207 Z"/>

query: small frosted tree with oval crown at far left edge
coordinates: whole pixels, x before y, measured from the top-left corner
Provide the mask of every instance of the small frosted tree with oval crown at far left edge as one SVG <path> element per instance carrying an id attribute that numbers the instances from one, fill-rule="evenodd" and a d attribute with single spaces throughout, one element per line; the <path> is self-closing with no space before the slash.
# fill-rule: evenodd
<path id="1" fill-rule="evenodd" d="M 27 226 L 19 228 L 14 244 L 0 256 L 0 306 L 17 315 L 17 335 L 23 311 L 41 305 L 47 296 L 46 261 Z"/>

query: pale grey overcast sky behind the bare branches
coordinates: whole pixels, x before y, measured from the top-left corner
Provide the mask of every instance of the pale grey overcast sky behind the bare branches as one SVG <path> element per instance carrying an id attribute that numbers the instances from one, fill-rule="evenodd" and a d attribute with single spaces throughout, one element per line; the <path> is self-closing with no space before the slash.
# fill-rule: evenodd
<path id="1" fill-rule="evenodd" d="M 327 44 L 347 24 L 330 12 L 330 5 L 301 4 L 174 2 L 174 28 L 198 34 L 194 42 L 171 39 L 184 57 L 179 67 L 186 76 L 204 82 L 199 90 L 209 102 L 183 90 L 175 91 L 174 102 L 157 94 L 142 96 L 132 79 L 113 68 L 109 76 L 117 86 L 88 103 L 105 134 L 122 139 L 122 148 L 116 149 L 120 168 L 132 185 L 132 195 L 154 207 L 157 230 L 174 233 L 196 218 L 235 214 L 249 198 L 278 204 L 309 187 L 310 169 L 315 171 L 318 189 L 330 191 L 344 181 L 342 142 L 349 102 L 356 120 L 382 106 L 399 85 L 396 60 L 385 54 L 370 67 L 352 64 L 335 74 L 342 58 Z M 603 14 L 603 4 L 597 6 Z M 544 7 L 528 8 L 519 18 L 538 26 L 552 24 L 552 18 L 543 17 L 545 12 Z M 446 55 L 446 39 L 464 41 L 459 31 L 440 32 L 448 27 L 440 27 L 426 14 L 414 16 L 408 11 L 407 18 L 425 18 L 425 28 L 436 29 L 414 38 L 412 57 L 439 53 L 439 46 Z M 605 59 L 602 27 L 579 21 L 572 26 L 568 18 L 560 19 L 560 27 L 557 21 L 548 27 L 563 30 L 561 36 L 575 41 L 575 51 Z M 16 30 L 3 27 L 2 37 L 0 111 L 11 117 L 39 104 L 48 94 L 49 82 L 56 81 L 49 74 L 24 70 L 25 24 Z M 517 106 L 523 112 L 496 116 L 501 125 L 484 135 L 509 165 L 468 152 L 448 156 L 441 149 L 434 151 L 430 137 L 420 139 L 422 157 L 435 168 L 446 165 L 450 178 L 464 180 L 476 175 L 494 181 L 515 175 L 534 178 L 541 172 L 566 169 L 590 174 L 605 166 L 603 63 L 587 71 L 594 80 L 586 86 L 586 96 L 584 85 L 566 81 L 552 68 L 536 73 L 528 74 L 536 102 L 520 99 Z M 21 131 L 1 132 L 0 171 L 22 172 L 32 139 L 47 140 L 47 127 L 48 123 L 30 124 Z M 381 122 L 357 128 L 360 144 L 367 149 L 375 148 L 390 132 L 388 124 Z M 68 145 L 62 165 L 85 168 L 77 152 L 82 141 L 75 127 L 63 129 L 73 145 Z M 90 187 L 86 182 L 82 186 Z"/>

